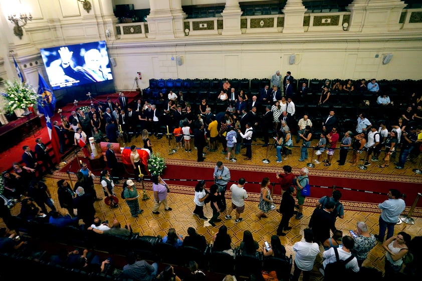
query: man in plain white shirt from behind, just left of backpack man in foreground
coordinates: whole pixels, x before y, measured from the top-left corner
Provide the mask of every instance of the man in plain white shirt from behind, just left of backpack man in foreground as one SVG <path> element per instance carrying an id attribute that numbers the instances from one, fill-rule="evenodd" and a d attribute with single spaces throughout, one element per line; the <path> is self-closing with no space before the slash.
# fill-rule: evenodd
<path id="1" fill-rule="evenodd" d="M 296 242 L 293 245 L 295 254 L 295 270 L 293 272 L 292 281 L 298 281 L 300 272 L 303 271 L 303 281 L 308 281 L 315 258 L 319 254 L 319 246 L 313 243 L 314 233 L 311 228 L 303 229 L 303 237 L 305 241 Z"/>

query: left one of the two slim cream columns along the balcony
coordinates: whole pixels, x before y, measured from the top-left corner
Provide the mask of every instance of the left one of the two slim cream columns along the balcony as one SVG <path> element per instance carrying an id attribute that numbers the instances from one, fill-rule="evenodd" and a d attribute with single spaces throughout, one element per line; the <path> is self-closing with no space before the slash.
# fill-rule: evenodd
<path id="1" fill-rule="evenodd" d="M 239 0 L 226 0 L 226 7 L 223 13 L 223 32 L 222 35 L 241 35 L 240 17 L 242 10 L 239 6 Z"/>

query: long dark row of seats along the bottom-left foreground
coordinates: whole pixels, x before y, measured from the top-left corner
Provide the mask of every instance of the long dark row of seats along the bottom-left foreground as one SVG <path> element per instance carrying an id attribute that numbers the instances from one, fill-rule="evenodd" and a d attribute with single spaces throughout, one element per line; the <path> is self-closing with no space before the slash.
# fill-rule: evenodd
<path id="1" fill-rule="evenodd" d="M 176 248 L 163 243 L 160 236 L 141 236 L 133 233 L 130 237 L 116 237 L 97 234 L 94 231 L 81 230 L 73 226 L 58 227 L 50 223 L 40 223 L 33 220 L 15 218 L 20 232 L 25 232 L 34 239 L 46 242 L 57 242 L 79 248 L 90 248 L 109 254 L 125 255 L 133 250 L 141 259 L 153 260 L 159 263 L 187 266 L 190 260 L 195 260 L 204 270 L 223 274 L 237 274 L 249 276 L 254 269 L 261 272 L 262 268 L 276 270 L 290 274 L 292 257 L 263 258 L 262 253 L 256 256 L 240 254 L 237 250 L 236 258 L 226 252 L 213 251 L 212 245 L 204 250 L 194 247 Z"/>

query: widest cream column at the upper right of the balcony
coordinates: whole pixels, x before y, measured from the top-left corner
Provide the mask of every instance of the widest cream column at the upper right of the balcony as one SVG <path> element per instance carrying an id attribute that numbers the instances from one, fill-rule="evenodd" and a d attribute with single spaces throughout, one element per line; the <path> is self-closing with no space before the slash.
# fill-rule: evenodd
<path id="1" fill-rule="evenodd" d="M 350 32 L 398 31 L 401 12 L 406 5 L 400 0 L 354 0 L 347 10 Z"/>

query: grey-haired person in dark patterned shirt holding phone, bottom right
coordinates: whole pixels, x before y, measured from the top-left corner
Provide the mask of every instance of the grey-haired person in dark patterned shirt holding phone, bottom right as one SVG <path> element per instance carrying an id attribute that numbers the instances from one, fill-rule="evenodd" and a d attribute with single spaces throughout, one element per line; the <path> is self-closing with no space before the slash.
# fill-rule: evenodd
<path id="1" fill-rule="evenodd" d="M 368 226 L 363 221 L 356 224 L 357 231 L 350 230 L 350 235 L 355 239 L 352 253 L 356 256 L 357 264 L 362 266 L 363 261 L 368 257 L 368 252 L 375 247 L 375 236 L 368 232 Z"/>

